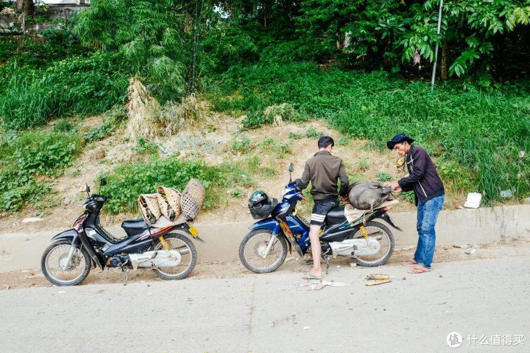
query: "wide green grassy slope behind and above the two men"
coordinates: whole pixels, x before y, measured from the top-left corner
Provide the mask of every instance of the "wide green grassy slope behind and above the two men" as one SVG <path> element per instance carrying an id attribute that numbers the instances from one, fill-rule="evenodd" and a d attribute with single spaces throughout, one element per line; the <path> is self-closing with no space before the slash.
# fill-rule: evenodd
<path id="1" fill-rule="evenodd" d="M 452 191 L 480 192 L 500 200 L 514 187 L 530 195 L 530 83 L 492 92 L 458 83 L 430 92 L 427 82 L 405 82 L 388 73 L 365 74 L 307 62 L 236 67 L 203 82 L 218 111 L 246 114 L 245 125 L 270 123 L 267 106 L 289 103 L 304 119 L 323 119 L 348 137 L 385 141 L 408 133 L 437 156 L 440 175 Z M 292 135 L 291 138 L 298 138 Z"/>

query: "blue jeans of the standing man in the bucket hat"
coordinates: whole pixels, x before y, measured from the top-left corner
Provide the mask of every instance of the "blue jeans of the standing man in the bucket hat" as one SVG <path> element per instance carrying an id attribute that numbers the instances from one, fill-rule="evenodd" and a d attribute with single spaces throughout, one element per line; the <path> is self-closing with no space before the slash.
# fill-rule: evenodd
<path id="1" fill-rule="evenodd" d="M 436 234 L 434 227 L 438 213 L 444 205 L 445 195 L 431 198 L 425 204 L 418 203 L 418 247 L 414 252 L 414 261 L 419 265 L 430 268 L 432 257 L 434 256 L 434 247 L 436 243 Z"/>

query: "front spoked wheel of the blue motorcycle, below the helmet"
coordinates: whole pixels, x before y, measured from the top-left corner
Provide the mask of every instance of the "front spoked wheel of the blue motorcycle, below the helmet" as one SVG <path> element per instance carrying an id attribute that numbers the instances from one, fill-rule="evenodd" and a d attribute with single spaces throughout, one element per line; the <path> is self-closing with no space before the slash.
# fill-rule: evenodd
<path id="1" fill-rule="evenodd" d="M 269 241 L 273 243 L 265 258 Z M 255 273 L 268 273 L 277 269 L 284 263 L 287 256 L 287 242 L 282 236 L 272 237 L 268 229 L 255 229 L 241 241 L 239 258 L 243 265 Z"/>

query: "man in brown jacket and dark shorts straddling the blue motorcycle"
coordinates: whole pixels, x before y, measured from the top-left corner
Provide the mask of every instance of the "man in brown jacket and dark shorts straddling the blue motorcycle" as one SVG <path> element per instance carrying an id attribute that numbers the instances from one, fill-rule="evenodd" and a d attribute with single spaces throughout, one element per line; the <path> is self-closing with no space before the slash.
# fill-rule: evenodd
<path id="1" fill-rule="evenodd" d="M 320 240 L 319 233 L 326 214 L 339 205 L 340 195 L 342 200 L 347 200 L 348 176 L 342 163 L 342 159 L 331 155 L 335 143 L 329 136 L 319 139 L 319 151 L 308 159 L 305 164 L 302 179 L 296 180 L 296 186 L 305 189 L 311 182 L 311 195 L 315 205 L 311 213 L 311 227 L 309 239 L 311 240 L 311 252 L 313 254 L 313 268 L 306 273 L 305 279 L 321 279 L 322 269 L 320 268 Z M 338 192 L 338 179 L 340 179 L 340 193 Z"/>

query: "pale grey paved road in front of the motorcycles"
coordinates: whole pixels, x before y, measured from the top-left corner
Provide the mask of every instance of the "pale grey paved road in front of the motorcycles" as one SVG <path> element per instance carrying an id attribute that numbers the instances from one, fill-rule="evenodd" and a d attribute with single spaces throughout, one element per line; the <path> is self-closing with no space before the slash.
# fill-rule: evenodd
<path id="1" fill-rule="evenodd" d="M 0 352 L 528 352 L 529 261 L 334 267 L 326 279 L 350 285 L 321 291 L 292 273 L 0 291 Z M 367 287 L 370 273 L 396 277 Z M 524 346 L 492 346 L 496 334 Z"/>

